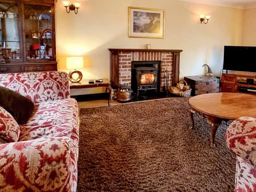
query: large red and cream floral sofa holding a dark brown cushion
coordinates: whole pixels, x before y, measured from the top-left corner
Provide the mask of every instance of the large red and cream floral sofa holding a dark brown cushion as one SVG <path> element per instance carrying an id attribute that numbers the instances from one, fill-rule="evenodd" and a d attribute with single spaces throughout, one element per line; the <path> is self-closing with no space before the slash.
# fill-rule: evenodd
<path id="1" fill-rule="evenodd" d="M 0 191 L 75 192 L 78 104 L 66 72 L 0 74 L 0 86 L 34 102 L 17 142 L 0 144 Z"/>

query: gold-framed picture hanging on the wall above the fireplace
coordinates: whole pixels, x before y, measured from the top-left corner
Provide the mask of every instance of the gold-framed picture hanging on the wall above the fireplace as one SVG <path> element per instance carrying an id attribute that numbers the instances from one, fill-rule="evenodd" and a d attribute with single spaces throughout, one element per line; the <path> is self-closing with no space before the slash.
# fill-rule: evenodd
<path id="1" fill-rule="evenodd" d="M 128 36 L 164 38 L 164 10 L 128 7 Z"/>

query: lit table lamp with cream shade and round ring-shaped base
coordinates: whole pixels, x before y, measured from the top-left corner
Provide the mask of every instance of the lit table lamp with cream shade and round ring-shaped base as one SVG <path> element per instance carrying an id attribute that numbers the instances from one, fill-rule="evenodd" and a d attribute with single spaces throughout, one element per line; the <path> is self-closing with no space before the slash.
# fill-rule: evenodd
<path id="1" fill-rule="evenodd" d="M 84 58 L 83 57 L 67 57 L 66 58 L 66 67 L 67 69 L 72 69 L 68 73 L 69 80 L 71 82 L 79 82 L 82 80 L 82 72 L 76 70 L 84 67 Z M 75 76 L 75 78 L 74 78 Z M 78 77 L 76 77 L 78 76 Z"/>

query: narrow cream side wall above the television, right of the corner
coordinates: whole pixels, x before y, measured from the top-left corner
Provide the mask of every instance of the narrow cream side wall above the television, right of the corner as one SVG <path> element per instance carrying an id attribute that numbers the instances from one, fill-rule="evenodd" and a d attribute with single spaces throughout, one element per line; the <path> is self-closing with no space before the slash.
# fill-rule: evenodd
<path id="1" fill-rule="evenodd" d="M 242 44 L 256 46 L 256 8 L 244 10 L 244 25 Z"/>

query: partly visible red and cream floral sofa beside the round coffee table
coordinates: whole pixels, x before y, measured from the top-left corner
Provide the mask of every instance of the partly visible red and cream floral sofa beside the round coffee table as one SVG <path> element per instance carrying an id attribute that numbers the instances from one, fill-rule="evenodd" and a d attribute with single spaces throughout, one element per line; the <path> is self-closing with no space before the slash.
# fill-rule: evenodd
<path id="1" fill-rule="evenodd" d="M 227 129 L 228 148 L 236 154 L 236 192 L 256 192 L 256 119 L 241 117 Z"/>

